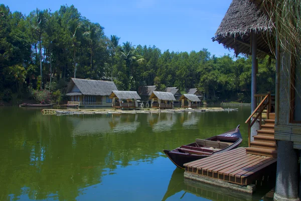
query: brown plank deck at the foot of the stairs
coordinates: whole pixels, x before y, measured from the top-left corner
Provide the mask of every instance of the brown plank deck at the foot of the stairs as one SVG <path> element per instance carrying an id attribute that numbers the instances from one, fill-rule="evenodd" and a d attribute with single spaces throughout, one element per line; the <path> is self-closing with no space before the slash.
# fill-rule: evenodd
<path id="1" fill-rule="evenodd" d="M 244 147 L 184 164 L 185 171 L 196 175 L 249 185 L 274 176 L 276 158 L 247 154 Z M 271 168 L 272 167 L 272 168 Z"/>

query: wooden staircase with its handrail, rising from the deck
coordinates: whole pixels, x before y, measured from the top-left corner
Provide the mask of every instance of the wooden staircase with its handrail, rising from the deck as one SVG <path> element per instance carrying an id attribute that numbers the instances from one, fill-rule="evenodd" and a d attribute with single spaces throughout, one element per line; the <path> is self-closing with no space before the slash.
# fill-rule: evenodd
<path id="1" fill-rule="evenodd" d="M 268 156 L 277 158 L 277 145 L 274 139 L 274 127 L 275 127 L 275 113 L 269 113 L 270 106 L 270 94 L 267 94 L 263 98 L 262 102 L 258 105 L 253 114 L 246 121 L 249 129 L 249 147 L 246 148 L 247 154 L 254 154 L 260 156 Z M 264 124 L 261 125 L 262 112 L 267 109 L 268 119 L 264 120 Z M 256 117 L 254 118 L 254 115 Z M 251 120 L 253 117 L 253 120 Z M 254 141 L 250 142 L 250 129 L 255 121 L 259 118 L 260 130 L 257 130 L 257 135 L 254 136 Z"/>

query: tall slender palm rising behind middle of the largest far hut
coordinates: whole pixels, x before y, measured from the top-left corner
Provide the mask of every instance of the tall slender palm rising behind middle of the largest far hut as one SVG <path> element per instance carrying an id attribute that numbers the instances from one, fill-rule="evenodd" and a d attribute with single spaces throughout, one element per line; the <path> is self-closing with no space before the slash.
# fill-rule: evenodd
<path id="1" fill-rule="evenodd" d="M 83 35 L 87 38 L 87 40 L 89 41 L 89 46 L 90 46 L 90 67 L 92 70 L 94 70 L 94 65 L 93 65 L 93 51 L 94 48 L 97 44 L 97 42 L 99 42 L 100 36 L 103 34 L 102 30 L 103 27 L 101 27 L 98 23 L 91 23 L 91 22 L 87 22 L 86 25 L 86 30 Z"/>

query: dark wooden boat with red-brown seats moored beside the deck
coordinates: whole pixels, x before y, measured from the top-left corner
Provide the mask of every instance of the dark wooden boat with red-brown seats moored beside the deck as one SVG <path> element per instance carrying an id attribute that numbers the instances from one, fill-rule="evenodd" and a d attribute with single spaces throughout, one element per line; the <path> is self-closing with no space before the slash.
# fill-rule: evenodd
<path id="1" fill-rule="evenodd" d="M 238 147 L 242 141 L 238 125 L 226 133 L 182 145 L 174 150 L 163 150 L 171 161 L 179 168 L 184 169 L 184 164 L 199 160 L 213 154 L 222 153 Z"/>

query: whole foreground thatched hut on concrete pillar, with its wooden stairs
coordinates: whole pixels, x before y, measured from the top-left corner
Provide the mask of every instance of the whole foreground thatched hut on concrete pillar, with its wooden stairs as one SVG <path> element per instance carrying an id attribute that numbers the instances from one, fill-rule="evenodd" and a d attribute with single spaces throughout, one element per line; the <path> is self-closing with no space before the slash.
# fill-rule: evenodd
<path id="1" fill-rule="evenodd" d="M 295 5 L 284 5 L 286 1 L 266 2 L 270 1 L 233 0 L 213 41 L 233 49 L 236 55 L 252 55 L 252 114 L 246 120 L 249 127 L 249 147 L 246 153 L 271 157 L 271 161 L 277 159 L 277 165 L 274 165 L 277 167 L 274 200 L 299 200 L 301 180 L 297 175 L 300 175 L 298 160 L 301 153 L 301 54 L 294 51 L 299 45 L 291 46 L 295 44 L 287 41 L 300 41 L 301 38 L 299 28 L 295 27 L 299 22 L 291 23 L 290 29 L 283 29 L 283 25 L 300 21 L 296 13 L 299 14 L 301 9 L 299 2 L 292 3 Z M 293 11 L 288 12 L 287 9 Z M 281 15 L 276 15 L 280 11 Z M 282 19 L 275 21 L 271 13 Z M 289 19 L 286 16 L 290 16 Z M 285 39 L 283 36 L 286 36 Z M 255 101 L 257 58 L 266 55 L 276 61 L 275 113 L 270 113 L 269 93 L 258 105 Z M 261 125 L 263 110 L 267 110 L 267 119 Z M 258 114 L 255 115 L 257 117 L 254 114 Z M 257 120 L 260 120 L 259 123 Z M 252 131 L 255 132 L 254 136 Z M 254 170 L 264 171 L 264 168 L 268 166 L 261 163 Z M 271 172 L 272 169 L 267 171 Z"/>

